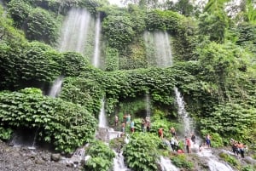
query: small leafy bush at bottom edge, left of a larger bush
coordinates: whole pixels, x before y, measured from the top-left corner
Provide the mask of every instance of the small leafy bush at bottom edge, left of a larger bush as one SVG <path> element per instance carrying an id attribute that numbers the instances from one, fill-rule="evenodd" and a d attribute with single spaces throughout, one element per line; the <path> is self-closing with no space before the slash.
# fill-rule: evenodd
<path id="1" fill-rule="evenodd" d="M 94 171 L 108 171 L 115 157 L 113 150 L 101 141 L 92 142 L 86 149 L 86 155 L 89 155 L 90 159 L 85 163 L 84 170 Z"/>

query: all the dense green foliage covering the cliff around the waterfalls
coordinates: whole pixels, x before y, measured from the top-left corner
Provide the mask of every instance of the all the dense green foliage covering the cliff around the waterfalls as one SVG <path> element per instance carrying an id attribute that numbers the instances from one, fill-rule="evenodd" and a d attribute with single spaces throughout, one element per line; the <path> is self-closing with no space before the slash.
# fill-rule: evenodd
<path id="1" fill-rule="evenodd" d="M 133 134 L 123 150 L 131 169 L 153 171 L 159 155 L 168 156 L 156 136 L 158 128 L 164 128 L 167 138 L 170 127 L 178 133 L 183 129 L 177 120 L 178 88 L 202 137 L 212 135 L 212 146 L 228 145 L 230 138 L 250 146 L 256 138 L 256 10 L 247 0 L 230 16 L 224 10 L 227 2 L 210 0 L 199 10 L 188 0 L 140 0 L 127 8 L 100 0 L 5 0 L 6 9 L 0 7 L 1 140 L 9 140 L 19 128 L 38 128 L 40 140 L 72 153 L 94 139 L 103 98 L 110 125 L 115 114 L 120 119 L 131 113 L 139 132 L 147 94 L 151 131 Z M 73 7 L 85 7 L 93 18 L 100 13 L 104 71 L 90 65 L 92 47 L 84 47 L 90 48 L 84 56 L 55 50 L 61 22 Z M 146 31 L 171 37 L 172 66 L 160 68 L 148 61 Z M 93 36 L 88 37 L 92 46 Z M 59 76 L 64 81 L 58 98 L 37 89 L 45 91 Z M 120 149 L 122 143 L 113 140 L 111 146 Z M 84 169 L 112 167 L 114 155 L 107 145 L 96 141 L 87 150 L 91 158 Z M 255 168 L 221 157 L 241 170 Z M 172 162 L 194 167 L 184 155 L 172 157 Z"/>

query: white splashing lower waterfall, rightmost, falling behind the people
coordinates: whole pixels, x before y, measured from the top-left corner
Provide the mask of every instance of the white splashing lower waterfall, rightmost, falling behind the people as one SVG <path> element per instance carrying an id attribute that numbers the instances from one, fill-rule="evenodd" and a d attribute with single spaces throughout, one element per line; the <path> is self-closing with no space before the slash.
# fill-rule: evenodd
<path id="1" fill-rule="evenodd" d="M 177 88 L 174 88 L 176 101 L 177 101 L 177 113 L 178 116 L 182 118 L 183 120 L 183 127 L 184 127 L 184 134 L 189 135 L 191 132 L 193 132 L 192 125 L 193 121 L 189 117 L 189 113 L 185 109 L 185 102 L 183 100 L 182 94 L 177 90 Z"/>

